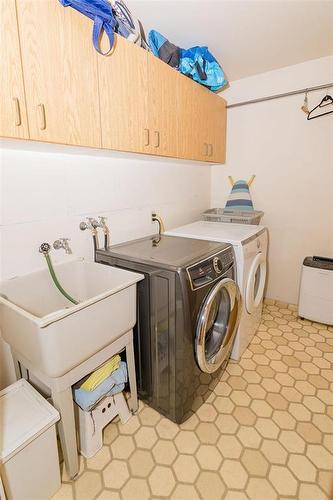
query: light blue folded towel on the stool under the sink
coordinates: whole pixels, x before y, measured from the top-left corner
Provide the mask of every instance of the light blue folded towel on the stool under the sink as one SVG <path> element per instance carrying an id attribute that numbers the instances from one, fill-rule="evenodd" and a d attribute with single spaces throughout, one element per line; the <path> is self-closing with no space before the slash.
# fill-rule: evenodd
<path id="1" fill-rule="evenodd" d="M 101 382 L 93 391 L 85 391 L 80 389 L 81 382 L 78 382 L 73 387 L 74 400 L 84 411 L 89 411 L 97 405 L 97 403 L 105 398 L 112 396 L 124 390 L 127 382 L 127 365 L 121 361 L 118 370 L 115 370 L 109 377 Z"/>

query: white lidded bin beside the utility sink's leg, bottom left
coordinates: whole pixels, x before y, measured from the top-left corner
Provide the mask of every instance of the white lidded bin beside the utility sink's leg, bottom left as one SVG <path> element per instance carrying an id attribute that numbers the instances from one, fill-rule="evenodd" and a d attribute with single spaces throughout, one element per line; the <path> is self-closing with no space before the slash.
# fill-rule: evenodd
<path id="1" fill-rule="evenodd" d="M 60 488 L 59 419 L 24 379 L 0 392 L 0 474 L 7 500 L 48 500 Z"/>

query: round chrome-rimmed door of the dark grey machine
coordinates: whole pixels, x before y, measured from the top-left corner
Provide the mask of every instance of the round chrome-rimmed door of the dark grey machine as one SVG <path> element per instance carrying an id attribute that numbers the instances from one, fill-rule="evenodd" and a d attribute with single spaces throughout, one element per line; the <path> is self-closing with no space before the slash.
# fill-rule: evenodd
<path id="1" fill-rule="evenodd" d="M 240 291 L 233 280 L 222 279 L 208 293 L 200 311 L 195 339 L 197 363 L 203 372 L 215 372 L 228 359 L 240 310 Z"/>

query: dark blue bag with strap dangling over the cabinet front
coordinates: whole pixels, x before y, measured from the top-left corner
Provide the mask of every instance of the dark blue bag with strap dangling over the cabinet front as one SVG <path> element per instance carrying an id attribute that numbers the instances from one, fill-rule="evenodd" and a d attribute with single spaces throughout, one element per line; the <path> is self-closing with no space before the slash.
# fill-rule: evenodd
<path id="1" fill-rule="evenodd" d="M 114 44 L 114 31 L 117 21 L 113 15 L 112 7 L 107 0 L 59 0 L 64 7 L 72 7 L 94 21 L 92 39 L 97 52 L 107 55 L 111 52 Z M 107 52 L 102 52 L 100 39 L 102 32 L 108 36 L 110 47 Z"/>

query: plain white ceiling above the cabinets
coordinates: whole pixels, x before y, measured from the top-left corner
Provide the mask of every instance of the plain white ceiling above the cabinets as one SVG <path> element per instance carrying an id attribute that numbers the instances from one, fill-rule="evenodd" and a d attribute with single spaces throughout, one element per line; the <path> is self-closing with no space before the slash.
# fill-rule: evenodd
<path id="1" fill-rule="evenodd" d="M 208 45 L 229 81 L 333 54 L 333 0 L 125 0 L 146 33 Z"/>

